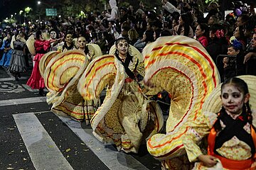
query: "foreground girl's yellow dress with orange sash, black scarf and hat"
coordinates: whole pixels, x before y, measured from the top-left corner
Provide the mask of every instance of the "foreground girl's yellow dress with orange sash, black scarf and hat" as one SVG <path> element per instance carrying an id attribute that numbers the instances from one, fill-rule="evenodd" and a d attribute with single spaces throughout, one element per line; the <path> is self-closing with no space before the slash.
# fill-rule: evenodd
<path id="1" fill-rule="evenodd" d="M 243 79 L 248 86 L 250 93 L 250 108 L 252 111 L 252 125 L 256 126 L 256 91 L 255 82 L 256 77 L 251 75 L 239 76 Z M 198 116 L 195 121 L 193 121 L 188 128 L 186 135 L 183 136 L 183 145 L 188 154 L 188 159 L 191 162 L 196 162 L 197 157 L 202 154 L 198 143 L 203 137 L 208 136 L 208 154 L 214 157 L 219 157 L 218 163 L 211 167 L 212 169 L 243 169 L 250 170 L 256 169 L 255 165 L 251 166 L 252 162 L 255 162 L 255 145 L 256 145 L 256 135 L 255 130 L 246 121 L 246 113 L 242 113 L 238 118 L 231 118 L 228 113 L 223 113 L 223 115 L 218 118 L 218 113 L 222 107 L 222 102 L 220 100 L 220 86 L 217 86 L 205 103 L 203 103 L 202 113 L 203 115 Z M 216 120 L 220 121 L 222 130 L 218 132 L 218 135 L 213 138 L 214 131 L 213 125 Z M 228 131 L 226 131 L 228 130 Z M 254 132 L 253 132 L 254 131 Z M 217 147 L 215 147 L 215 145 Z M 213 149 L 214 148 L 214 149 Z M 254 150 L 254 152 L 253 152 Z M 215 154 L 215 153 L 218 153 Z M 228 159 L 228 162 L 225 159 Z M 254 158 L 252 160 L 252 158 Z M 236 161 L 245 161 L 244 164 L 238 164 Z M 232 162 L 230 164 L 230 161 Z M 252 161 L 252 162 L 251 162 Z M 244 167 L 242 167 L 244 166 Z M 208 167 L 203 166 L 201 162 L 196 162 L 193 169 L 208 169 Z"/>

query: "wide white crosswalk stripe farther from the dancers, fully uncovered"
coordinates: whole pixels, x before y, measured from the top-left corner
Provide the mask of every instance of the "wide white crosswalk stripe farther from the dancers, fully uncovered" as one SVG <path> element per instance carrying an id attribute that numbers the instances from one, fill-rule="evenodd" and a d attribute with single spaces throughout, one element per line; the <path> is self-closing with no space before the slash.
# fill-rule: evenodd
<path id="1" fill-rule="evenodd" d="M 43 169 L 73 170 L 58 147 L 43 128 L 36 115 L 31 113 L 15 114 L 18 131 L 28 149 L 34 167 Z"/>

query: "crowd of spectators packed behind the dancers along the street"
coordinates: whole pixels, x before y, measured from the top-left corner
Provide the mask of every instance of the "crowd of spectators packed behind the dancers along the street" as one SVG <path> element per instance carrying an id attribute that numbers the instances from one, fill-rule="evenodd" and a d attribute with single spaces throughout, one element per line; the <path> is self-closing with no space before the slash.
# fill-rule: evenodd
<path id="1" fill-rule="evenodd" d="M 87 43 L 100 45 L 102 54 L 107 54 L 119 37 L 127 38 L 131 45 L 142 52 L 146 44 L 160 36 L 184 35 L 201 42 L 217 65 L 222 80 L 229 78 L 228 70 L 233 70 L 225 67 L 238 70 L 235 75 L 232 74 L 233 76 L 256 74 L 252 67 L 256 57 L 256 16 L 253 4 L 237 6 L 233 13 L 223 16 L 219 4 L 211 2 L 208 5 L 208 15 L 204 16 L 201 11 L 202 6 L 194 0 L 162 0 L 162 10 L 159 13 L 145 8 L 142 2 L 136 10 L 133 6 L 117 6 L 115 0 L 110 0 L 109 3 L 110 10 L 92 11 L 86 18 L 56 17 L 30 23 L 27 26 L 17 24 L 1 28 L 1 60 L 3 54 L 11 50 L 4 45 L 8 44 L 6 42 L 10 41 L 12 35 L 18 33 L 27 40 L 37 30 L 49 34 L 54 31 L 55 39 L 63 38 L 58 40 L 59 43 L 64 41 L 68 34 L 72 35 L 74 43 L 75 38 L 83 36 Z M 230 47 L 239 51 L 236 55 L 238 60 L 235 62 L 229 60 Z M 29 52 L 26 50 L 26 66 L 32 67 L 28 63 L 28 55 Z M 0 64 L 2 67 L 8 67 L 4 61 Z"/>

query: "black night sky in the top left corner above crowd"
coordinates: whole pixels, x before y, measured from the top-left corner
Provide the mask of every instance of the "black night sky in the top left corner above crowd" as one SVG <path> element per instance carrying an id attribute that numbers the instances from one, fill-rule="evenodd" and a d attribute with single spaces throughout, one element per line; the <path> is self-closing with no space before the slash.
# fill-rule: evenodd
<path id="1" fill-rule="evenodd" d="M 36 0 L 0 0 L 0 21 L 3 18 L 10 17 L 11 14 L 17 13 L 26 6 L 36 6 Z"/>

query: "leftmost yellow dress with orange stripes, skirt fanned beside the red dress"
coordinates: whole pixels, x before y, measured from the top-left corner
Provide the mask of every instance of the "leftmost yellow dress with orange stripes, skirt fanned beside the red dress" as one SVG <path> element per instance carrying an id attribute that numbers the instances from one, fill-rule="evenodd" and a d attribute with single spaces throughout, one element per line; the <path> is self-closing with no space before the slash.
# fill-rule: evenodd
<path id="1" fill-rule="evenodd" d="M 48 52 L 40 62 L 47 94 L 47 102 L 53 104 L 51 110 L 58 115 L 69 115 L 70 118 L 90 124 L 92 115 L 99 105 L 98 100 L 84 100 L 77 86 L 80 76 L 95 57 L 102 55 L 100 47 L 87 45 L 89 53 L 80 50 L 66 52 Z M 92 47 L 93 46 L 93 47 Z"/>

